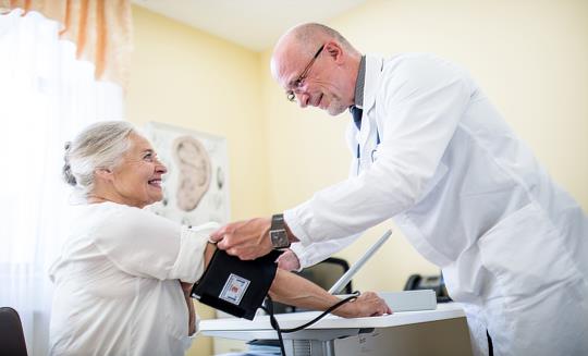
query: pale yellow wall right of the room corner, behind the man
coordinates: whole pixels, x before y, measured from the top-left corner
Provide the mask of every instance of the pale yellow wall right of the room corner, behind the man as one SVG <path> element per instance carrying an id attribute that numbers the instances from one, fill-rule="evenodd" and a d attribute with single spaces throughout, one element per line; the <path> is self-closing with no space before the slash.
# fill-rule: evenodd
<path id="1" fill-rule="evenodd" d="M 426 51 L 467 67 L 519 137 L 588 211 L 588 1 L 368 1 L 327 23 L 362 52 Z M 332 118 L 284 99 L 260 63 L 270 207 L 286 209 L 347 174 L 343 133 Z M 354 261 L 385 226 L 340 256 Z M 397 232 L 355 279 L 368 290 L 401 290 L 409 273 L 437 268 Z"/>

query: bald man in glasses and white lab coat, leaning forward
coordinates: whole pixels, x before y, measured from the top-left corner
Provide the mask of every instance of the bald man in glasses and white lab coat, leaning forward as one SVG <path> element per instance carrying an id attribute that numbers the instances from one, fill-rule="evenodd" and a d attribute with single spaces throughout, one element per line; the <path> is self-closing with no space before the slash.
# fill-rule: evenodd
<path id="1" fill-rule="evenodd" d="M 588 355 L 588 219 L 466 71 L 430 54 L 362 56 L 304 24 L 271 72 L 302 108 L 350 110 L 351 176 L 272 218 L 225 225 L 218 246 L 252 259 L 292 245 L 316 263 L 389 218 L 464 305 L 476 354 Z"/>

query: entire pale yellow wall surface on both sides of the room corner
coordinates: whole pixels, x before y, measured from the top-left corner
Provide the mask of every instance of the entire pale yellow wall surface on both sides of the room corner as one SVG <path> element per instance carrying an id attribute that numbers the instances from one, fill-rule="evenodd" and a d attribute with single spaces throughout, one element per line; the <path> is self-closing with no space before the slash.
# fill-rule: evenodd
<path id="1" fill-rule="evenodd" d="M 290 208 L 346 176 L 348 116 L 286 102 L 269 75 L 269 50 L 255 53 L 140 8 L 133 15 L 127 118 L 225 136 L 233 219 Z M 469 69 L 555 181 L 588 210 L 588 1 L 368 1 L 327 24 L 363 52 L 427 51 Z M 339 256 L 353 262 L 385 226 Z M 437 272 L 400 232 L 379 257 L 355 287 L 394 291 L 412 272 Z M 191 355 L 209 354 L 209 340 L 199 337 Z"/>

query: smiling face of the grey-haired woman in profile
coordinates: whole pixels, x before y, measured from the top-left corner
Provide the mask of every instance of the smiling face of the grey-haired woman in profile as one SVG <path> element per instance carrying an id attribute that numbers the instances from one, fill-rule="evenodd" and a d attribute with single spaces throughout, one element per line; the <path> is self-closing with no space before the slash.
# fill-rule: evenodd
<path id="1" fill-rule="evenodd" d="M 137 134 L 128 136 L 131 147 L 112 170 L 112 189 L 117 202 L 144 208 L 163 197 L 161 176 L 168 171 L 149 142 Z"/>

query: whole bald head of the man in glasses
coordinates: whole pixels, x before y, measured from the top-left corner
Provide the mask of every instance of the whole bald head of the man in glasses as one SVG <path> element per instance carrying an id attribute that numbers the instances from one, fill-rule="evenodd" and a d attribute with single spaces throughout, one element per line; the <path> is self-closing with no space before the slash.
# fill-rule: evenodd
<path id="1" fill-rule="evenodd" d="M 309 23 L 278 40 L 270 65 L 290 101 L 336 115 L 354 103 L 360 60 L 362 53 L 339 32 Z"/>

